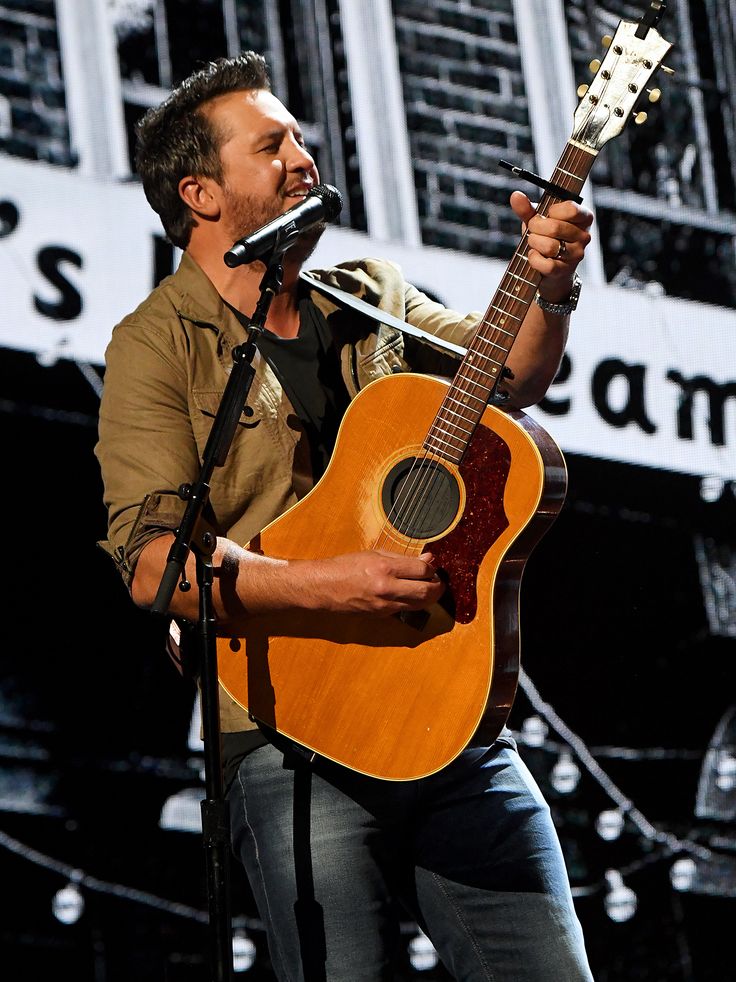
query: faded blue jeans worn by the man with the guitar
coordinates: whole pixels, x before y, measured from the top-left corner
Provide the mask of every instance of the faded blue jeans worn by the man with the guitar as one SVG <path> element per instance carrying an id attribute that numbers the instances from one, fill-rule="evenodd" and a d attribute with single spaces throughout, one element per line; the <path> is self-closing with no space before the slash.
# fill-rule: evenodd
<path id="1" fill-rule="evenodd" d="M 275 742 L 228 798 L 280 982 L 389 982 L 402 906 L 457 980 L 591 982 L 549 808 L 515 750 L 393 782 Z"/>

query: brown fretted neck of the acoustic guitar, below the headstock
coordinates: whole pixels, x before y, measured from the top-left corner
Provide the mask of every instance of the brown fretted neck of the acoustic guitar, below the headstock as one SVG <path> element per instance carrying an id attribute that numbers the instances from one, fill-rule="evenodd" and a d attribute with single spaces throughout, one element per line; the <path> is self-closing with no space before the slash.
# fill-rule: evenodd
<path id="1" fill-rule="evenodd" d="M 597 154 L 570 141 L 550 179 L 553 185 L 579 194 Z M 537 213 L 546 215 L 560 199 L 545 192 Z M 481 318 L 460 368 L 450 385 L 424 449 L 459 464 L 496 386 L 533 301 L 542 274 L 529 264 L 525 231 L 488 309 Z"/>

